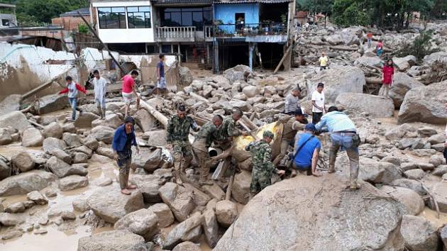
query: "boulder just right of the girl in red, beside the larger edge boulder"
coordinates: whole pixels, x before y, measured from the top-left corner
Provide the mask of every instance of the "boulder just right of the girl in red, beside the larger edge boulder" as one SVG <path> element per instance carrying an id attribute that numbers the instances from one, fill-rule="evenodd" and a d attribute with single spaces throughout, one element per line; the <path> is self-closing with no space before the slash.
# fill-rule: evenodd
<path id="1" fill-rule="evenodd" d="M 409 90 L 417 87 L 424 87 L 424 84 L 402 72 L 394 74 L 392 81 L 393 83 L 389 95 L 396 108 L 399 108 L 402 105 L 405 95 Z"/>

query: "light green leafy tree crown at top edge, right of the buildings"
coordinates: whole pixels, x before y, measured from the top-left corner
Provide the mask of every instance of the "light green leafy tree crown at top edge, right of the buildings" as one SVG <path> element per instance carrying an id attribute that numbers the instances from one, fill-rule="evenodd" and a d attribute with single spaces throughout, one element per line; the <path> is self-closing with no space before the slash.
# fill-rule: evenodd
<path id="1" fill-rule="evenodd" d="M 332 12 L 338 26 L 368 26 L 371 22 L 370 11 L 355 0 L 336 0 Z"/>

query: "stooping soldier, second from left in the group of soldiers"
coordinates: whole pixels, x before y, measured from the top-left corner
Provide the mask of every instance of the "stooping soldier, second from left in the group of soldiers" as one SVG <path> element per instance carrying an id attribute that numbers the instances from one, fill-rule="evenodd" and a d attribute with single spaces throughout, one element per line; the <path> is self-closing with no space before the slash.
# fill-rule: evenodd
<path id="1" fill-rule="evenodd" d="M 202 126 L 194 139 L 194 143 L 192 143 L 192 152 L 194 152 L 194 156 L 199 164 L 199 184 L 201 186 L 213 184 L 213 182 L 208 181 L 210 165 L 208 148 L 216 140 L 217 128 L 221 126 L 222 120 L 220 115 L 215 115 L 212 122 L 208 122 Z"/>

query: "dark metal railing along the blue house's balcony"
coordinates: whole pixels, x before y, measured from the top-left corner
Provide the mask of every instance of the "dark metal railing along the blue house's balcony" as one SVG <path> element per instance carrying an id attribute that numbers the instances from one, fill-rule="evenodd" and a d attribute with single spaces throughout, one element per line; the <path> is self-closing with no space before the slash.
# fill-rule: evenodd
<path id="1" fill-rule="evenodd" d="M 286 23 L 235 23 L 206 26 L 206 28 L 209 27 L 212 27 L 209 34 L 215 38 L 287 34 Z M 205 35 L 207 34 L 206 32 Z"/>

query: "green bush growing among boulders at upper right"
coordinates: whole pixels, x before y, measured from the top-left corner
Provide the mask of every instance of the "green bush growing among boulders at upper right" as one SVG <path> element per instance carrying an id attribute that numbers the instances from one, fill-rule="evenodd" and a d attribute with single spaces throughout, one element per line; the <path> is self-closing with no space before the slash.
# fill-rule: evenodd
<path id="1" fill-rule="evenodd" d="M 431 49 L 431 36 L 433 30 L 421 30 L 419 36 L 414 39 L 413 43 L 407 43 L 397 52 L 398 57 L 414 55 L 418 60 L 422 60 L 426 55 L 430 55 L 438 50 Z"/>

